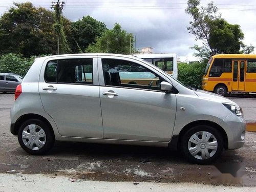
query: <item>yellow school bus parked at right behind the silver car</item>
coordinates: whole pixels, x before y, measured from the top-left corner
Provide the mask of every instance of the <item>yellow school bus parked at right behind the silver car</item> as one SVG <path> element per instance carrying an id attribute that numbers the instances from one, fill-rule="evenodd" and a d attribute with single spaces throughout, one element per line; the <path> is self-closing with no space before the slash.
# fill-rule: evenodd
<path id="1" fill-rule="evenodd" d="M 202 88 L 222 96 L 232 92 L 256 92 L 256 55 L 220 54 L 210 57 Z"/>

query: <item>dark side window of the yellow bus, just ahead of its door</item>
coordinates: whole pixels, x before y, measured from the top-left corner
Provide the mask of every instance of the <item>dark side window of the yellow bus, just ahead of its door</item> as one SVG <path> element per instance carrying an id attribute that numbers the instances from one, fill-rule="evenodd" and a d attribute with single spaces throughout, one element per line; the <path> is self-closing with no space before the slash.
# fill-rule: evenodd
<path id="1" fill-rule="evenodd" d="M 231 73 L 231 59 L 218 59 L 214 60 L 212 63 L 209 77 L 220 77 L 222 73 Z"/>

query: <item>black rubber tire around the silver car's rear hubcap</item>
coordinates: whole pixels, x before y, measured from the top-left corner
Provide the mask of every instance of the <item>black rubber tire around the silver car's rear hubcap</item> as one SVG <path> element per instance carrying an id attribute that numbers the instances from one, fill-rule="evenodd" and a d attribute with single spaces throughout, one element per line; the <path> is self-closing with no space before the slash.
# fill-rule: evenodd
<path id="1" fill-rule="evenodd" d="M 34 150 L 33 150 L 33 149 L 31 149 L 31 148 L 29 148 L 29 147 L 27 147 L 25 145 L 24 140 L 23 140 L 23 131 L 28 129 L 28 128 L 26 128 L 26 127 L 28 127 L 28 125 L 36 125 L 36 126 L 34 126 L 34 127 L 36 127 L 35 133 L 39 129 L 44 131 L 45 137 L 39 138 L 41 140 L 41 142 L 44 143 L 44 145 L 41 148 L 38 148 L 38 147 L 36 148 L 35 147 L 36 144 L 33 144 L 33 145 L 35 145 L 34 146 Z M 39 128 L 38 128 L 38 126 L 39 126 Z M 30 132 L 29 130 L 27 132 Z M 40 136 L 38 136 L 38 137 L 40 137 Z M 31 139 L 32 139 L 32 136 L 31 136 L 30 139 L 25 139 L 25 140 L 27 142 L 29 142 L 29 140 L 31 140 Z M 44 121 L 41 121 L 39 119 L 29 119 L 29 120 L 25 121 L 24 123 L 22 123 L 22 125 L 19 127 L 19 130 L 18 130 L 18 142 L 19 142 L 20 146 L 22 146 L 22 148 L 27 153 L 32 154 L 32 155 L 43 155 L 43 154 L 46 154 L 52 148 L 52 146 L 53 146 L 53 144 L 55 142 L 55 137 L 54 137 L 54 133 L 53 133 L 51 127 L 49 127 L 49 125 L 47 123 L 45 123 Z M 34 141 L 32 141 L 32 142 L 34 142 Z M 32 145 L 30 145 L 30 146 L 33 147 Z"/>

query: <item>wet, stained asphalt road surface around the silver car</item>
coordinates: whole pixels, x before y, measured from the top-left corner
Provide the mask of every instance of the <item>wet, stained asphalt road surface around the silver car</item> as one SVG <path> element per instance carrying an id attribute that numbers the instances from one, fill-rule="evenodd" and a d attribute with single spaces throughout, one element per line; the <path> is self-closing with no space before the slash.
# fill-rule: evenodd
<path id="1" fill-rule="evenodd" d="M 246 114 L 253 119 L 256 98 L 237 99 Z M 68 175 L 99 181 L 154 181 L 194 183 L 234 183 L 240 178 L 219 173 L 217 164 L 245 166 L 243 185 L 256 185 L 256 133 L 247 133 L 245 147 L 227 151 L 214 165 L 187 163 L 178 152 L 166 148 L 56 142 L 45 156 L 31 156 L 20 148 L 10 131 L 10 108 L 13 95 L 0 94 L 0 173 Z M 249 110 L 252 110 L 248 112 Z M 254 118 L 255 119 L 255 118 Z"/>

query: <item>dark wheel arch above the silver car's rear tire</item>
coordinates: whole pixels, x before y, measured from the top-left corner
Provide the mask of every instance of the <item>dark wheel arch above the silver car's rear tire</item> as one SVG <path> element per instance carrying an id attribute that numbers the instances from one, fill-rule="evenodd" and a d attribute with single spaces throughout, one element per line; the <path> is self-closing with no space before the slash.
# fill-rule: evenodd
<path id="1" fill-rule="evenodd" d="M 39 119 L 39 120 L 47 123 L 47 125 L 50 127 L 52 134 L 55 138 L 55 134 L 54 134 L 53 127 L 52 127 L 51 123 L 45 117 L 38 115 L 38 114 L 33 114 L 33 113 L 22 115 L 16 120 L 15 125 L 14 125 L 14 135 L 18 135 L 18 129 L 19 129 L 20 125 L 22 125 L 23 122 L 25 122 L 29 119 Z"/>

